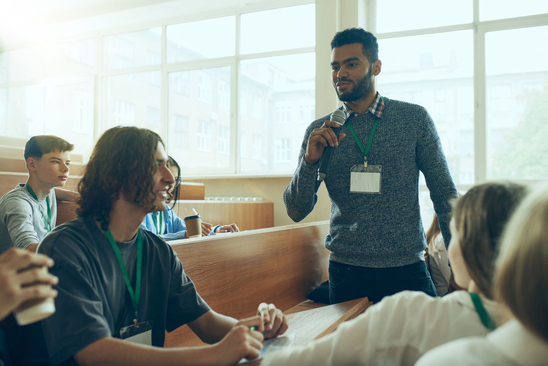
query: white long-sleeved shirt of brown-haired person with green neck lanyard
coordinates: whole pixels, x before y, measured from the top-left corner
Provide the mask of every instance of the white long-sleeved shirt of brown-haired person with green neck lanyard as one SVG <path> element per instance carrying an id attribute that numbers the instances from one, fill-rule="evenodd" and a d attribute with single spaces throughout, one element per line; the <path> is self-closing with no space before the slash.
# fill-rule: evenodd
<path id="1" fill-rule="evenodd" d="M 499 324 L 499 305 L 483 298 L 482 303 Z M 466 291 L 444 297 L 403 291 L 385 297 L 321 339 L 269 354 L 261 366 L 413 365 L 436 346 L 488 332 Z"/>

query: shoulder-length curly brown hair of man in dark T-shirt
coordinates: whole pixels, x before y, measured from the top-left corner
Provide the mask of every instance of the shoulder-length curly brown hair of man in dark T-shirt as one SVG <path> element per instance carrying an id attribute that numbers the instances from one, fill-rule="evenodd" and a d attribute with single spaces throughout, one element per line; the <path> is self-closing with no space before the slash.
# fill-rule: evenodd
<path id="1" fill-rule="evenodd" d="M 94 215 L 108 222 L 112 202 L 121 190 L 125 199 L 153 211 L 158 142 L 164 144 L 157 133 L 146 128 L 117 126 L 105 131 L 78 184 L 78 216 Z"/>

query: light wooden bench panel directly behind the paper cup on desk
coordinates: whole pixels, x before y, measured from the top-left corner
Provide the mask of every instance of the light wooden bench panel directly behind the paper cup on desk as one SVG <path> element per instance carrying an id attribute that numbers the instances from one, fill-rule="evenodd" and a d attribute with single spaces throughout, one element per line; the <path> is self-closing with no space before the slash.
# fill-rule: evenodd
<path id="1" fill-rule="evenodd" d="M 271 201 L 179 201 L 175 212 L 179 217 L 191 215 L 192 208 L 202 221 L 214 225 L 236 223 L 240 230 L 255 230 L 274 226 L 274 204 Z M 189 213 L 190 212 L 190 213 Z"/>

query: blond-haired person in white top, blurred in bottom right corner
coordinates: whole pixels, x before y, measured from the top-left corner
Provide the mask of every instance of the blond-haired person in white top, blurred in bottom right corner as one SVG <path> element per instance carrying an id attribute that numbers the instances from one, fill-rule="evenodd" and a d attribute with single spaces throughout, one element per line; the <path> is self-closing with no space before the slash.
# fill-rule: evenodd
<path id="1" fill-rule="evenodd" d="M 548 364 L 548 189 L 530 195 L 512 216 L 495 268 L 495 297 L 510 320 L 486 337 L 468 337 L 427 352 L 417 366 Z"/>

